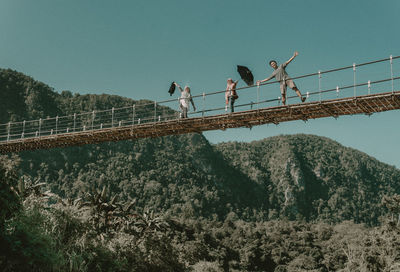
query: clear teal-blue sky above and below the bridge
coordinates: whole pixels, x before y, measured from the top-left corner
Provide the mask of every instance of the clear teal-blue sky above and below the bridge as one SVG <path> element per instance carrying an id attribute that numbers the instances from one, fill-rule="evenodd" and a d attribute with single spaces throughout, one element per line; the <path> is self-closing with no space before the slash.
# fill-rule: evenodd
<path id="1" fill-rule="evenodd" d="M 261 79 L 271 73 L 267 60 L 285 61 L 295 50 L 292 76 L 400 55 L 399 14 L 398 0 L 1 0 L 0 67 L 58 92 L 164 100 L 172 80 L 189 84 L 193 94 L 222 90 L 227 77 L 237 78 L 237 64 Z M 388 69 L 377 66 L 365 78 L 385 77 Z M 400 61 L 394 72 L 399 76 Z M 352 81 L 352 71 L 342 76 Z M 314 91 L 313 80 L 296 83 Z M 278 86 L 261 91 L 279 95 Z M 316 134 L 400 168 L 399 117 L 392 111 L 205 135 L 218 143 Z"/>

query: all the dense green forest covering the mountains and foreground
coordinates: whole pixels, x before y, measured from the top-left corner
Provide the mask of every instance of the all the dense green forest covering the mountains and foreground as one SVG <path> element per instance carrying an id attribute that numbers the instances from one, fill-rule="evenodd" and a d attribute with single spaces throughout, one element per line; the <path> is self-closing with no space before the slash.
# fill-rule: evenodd
<path id="1" fill-rule="evenodd" d="M 133 102 L 0 70 L 1 123 Z M 23 152 L 0 181 L 1 271 L 400 269 L 400 171 L 323 137 Z"/>

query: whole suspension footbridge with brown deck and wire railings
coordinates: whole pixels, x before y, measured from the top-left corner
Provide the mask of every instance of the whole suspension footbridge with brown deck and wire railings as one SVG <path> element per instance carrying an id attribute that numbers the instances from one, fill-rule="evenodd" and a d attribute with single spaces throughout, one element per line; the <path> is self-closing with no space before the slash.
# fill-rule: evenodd
<path id="1" fill-rule="evenodd" d="M 236 105 L 237 112 L 227 113 L 225 107 L 206 107 L 206 98 L 225 92 L 203 92 L 193 96 L 200 102 L 201 109 L 190 113 L 190 118 L 179 118 L 179 113 L 167 108 L 168 103 L 177 103 L 170 99 L 151 103 L 136 103 L 129 107 L 108 110 L 93 110 L 67 116 L 56 116 L 39 120 L 24 120 L 0 124 L 0 153 L 21 152 L 25 150 L 49 149 L 55 147 L 79 146 L 110 141 L 122 141 L 185 133 L 200 133 L 208 130 L 248 127 L 263 124 L 334 117 L 343 115 L 366 114 L 400 109 L 400 91 L 395 90 L 395 82 L 400 77 L 393 73 L 393 62 L 400 56 L 390 56 L 371 62 L 318 71 L 292 77 L 293 80 L 317 78 L 318 88 L 307 92 L 307 102 L 281 105 L 281 97 L 262 99 L 260 88 L 278 82 L 237 88 L 239 95 L 246 91 L 255 91 L 256 101 Z M 388 65 L 387 76 L 376 80 L 357 83 L 358 69 L 378 64 Z M 381 68 L 381 67 L 380 67 Z M 337 85 L 322 89 L 322 78 L 326 74 L 352 70 L 352 84 Z M 340 75 L 343 77 L 343 75 Z M 297 82 L 297 81 L 296 81 Z M 379 87 L 381 86 L 381 87 Z M 287 102 L 297 96 L 287 97 Z M 215 100 L 215 99 L 214 99 Z M 221 100 L 219 98 L 219 100 Z M 178 99 L 179 102 L 179 99 Z M 198 103 L 197 103 L 198 104 Z M 211 103 L 210 103 L 211 104 Z M 164 106 L 164 107 L 163 107 Z"/>

